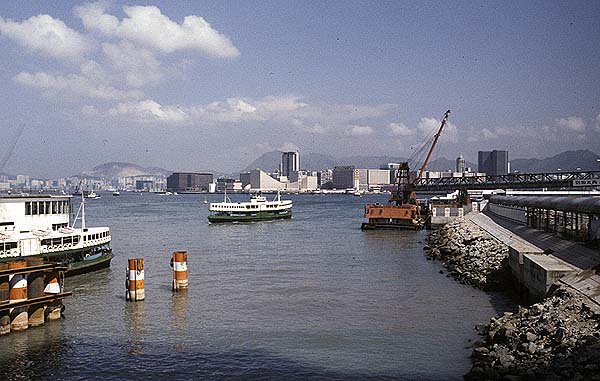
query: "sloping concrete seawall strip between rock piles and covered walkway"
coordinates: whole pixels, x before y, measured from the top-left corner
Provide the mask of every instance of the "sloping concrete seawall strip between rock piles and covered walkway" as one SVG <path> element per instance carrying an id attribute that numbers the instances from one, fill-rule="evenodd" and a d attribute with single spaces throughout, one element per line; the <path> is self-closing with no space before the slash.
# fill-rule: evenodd
<path id="1" fill-rule="evenodd" d="M 544 231 L 531 229 L 493 214 L 466 216 L 509 247 L 509 266 L 517 289 L 528 300 L 540 300 L 550 287 L 564 278 L 568 285 L 594 300 L 600 295 L 600 252 Z M 577 274 L 588 270 L 585 285 Z"/>

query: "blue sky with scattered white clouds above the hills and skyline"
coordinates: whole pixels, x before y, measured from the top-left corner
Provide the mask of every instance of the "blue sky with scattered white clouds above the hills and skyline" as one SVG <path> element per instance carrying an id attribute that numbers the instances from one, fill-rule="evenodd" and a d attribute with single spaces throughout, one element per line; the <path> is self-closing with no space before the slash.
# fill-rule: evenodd
<path id="1" fill-rule="evenodd" d="M 6 149 L 24 125 L 3 170 L 410 156 L 446 109 L 438 156 L 599 152 L 598 20 L 577 1 L 2 2 Z"/>

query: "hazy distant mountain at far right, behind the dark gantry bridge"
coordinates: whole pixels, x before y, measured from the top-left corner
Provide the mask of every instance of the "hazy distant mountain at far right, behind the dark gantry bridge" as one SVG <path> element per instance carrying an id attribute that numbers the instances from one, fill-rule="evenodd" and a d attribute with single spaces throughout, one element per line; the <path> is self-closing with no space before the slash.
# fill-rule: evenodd
<path id="1" fill-rule="evenodd" d="M 510 171 L 525 173 L 600 170 L 597 159 L 600 155 L 589 150 L 565 151 L 544 159 L 513 159 L 510 160 Z"/>

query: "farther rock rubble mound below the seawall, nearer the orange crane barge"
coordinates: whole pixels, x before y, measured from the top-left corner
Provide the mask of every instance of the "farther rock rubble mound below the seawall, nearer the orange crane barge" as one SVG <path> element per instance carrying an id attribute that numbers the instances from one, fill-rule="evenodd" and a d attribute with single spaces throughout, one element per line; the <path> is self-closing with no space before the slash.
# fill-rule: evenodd
<path id="1" fill-rule="evenodd" d="M 483 290 L 505 288 L 508 247 L 468 219 L 454 220 L 428 238 L 427 255 L 444 261 L 459 282 Z"/>

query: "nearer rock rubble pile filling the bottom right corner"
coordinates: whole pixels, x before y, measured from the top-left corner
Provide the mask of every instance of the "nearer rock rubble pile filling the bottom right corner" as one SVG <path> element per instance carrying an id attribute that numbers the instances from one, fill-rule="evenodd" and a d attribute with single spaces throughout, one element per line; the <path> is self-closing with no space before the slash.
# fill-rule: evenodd
<path id="1" fill-rule="evenodd" d="M 467 380 L 600 380 L 600 309 L 566 286 L 492 318 Z"/>

